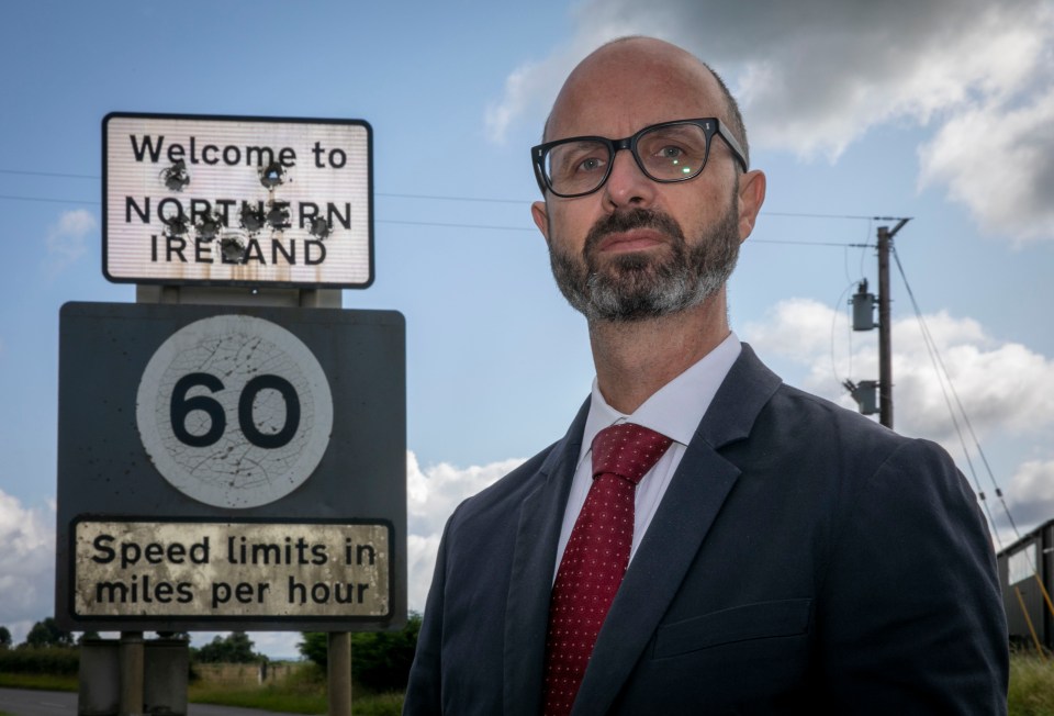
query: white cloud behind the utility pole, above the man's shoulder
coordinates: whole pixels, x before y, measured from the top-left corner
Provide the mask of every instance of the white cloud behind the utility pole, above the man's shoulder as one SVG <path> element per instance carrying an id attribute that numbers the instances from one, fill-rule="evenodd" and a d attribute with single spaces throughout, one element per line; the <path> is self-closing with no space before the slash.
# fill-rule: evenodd
<path id="1" fill-rule="evenodd" d="M 940 312 L 923 321 L 978 436 L 1050 433 L 1054 393 L 1038 387 L 1054 384 L 1054 360 L 1021 344 L 997 342 L 971 318 Z M 955 454 L 957 438 L 948 401 L 954 405 L 956 399 L 950 389 L 942 390 L 918 321 L 897 320 L 892 331 L 898 432 L 940 440 Z M 855 403 L 840 385 L 842 379 L 878 378 L 875 334 L 851 334 L 844 313 L 812 300 L 782 301 L 769 320 L 749 324 L 742 333 L 762 355 L 778 354 L 807 367 L 804 388 L 848 407 Z"/>

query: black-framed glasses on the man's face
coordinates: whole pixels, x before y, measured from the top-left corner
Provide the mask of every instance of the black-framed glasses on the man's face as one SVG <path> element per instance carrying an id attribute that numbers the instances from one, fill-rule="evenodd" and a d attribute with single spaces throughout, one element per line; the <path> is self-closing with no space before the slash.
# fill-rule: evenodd
<path id="1" fill-rule="evenodd" d="M 720 136 L 747 171 L 743 148 L 716 118 L 676 120 L 646 126 L 624 139 L 601 136 L 569 137 L 530 148 L 538 188 L 572 199 L 591 194 L 607 181 L 615 153 L 629 149 L 637 166 L 652 181 L 687 181 L 703 171 L 710 139 Z"/>

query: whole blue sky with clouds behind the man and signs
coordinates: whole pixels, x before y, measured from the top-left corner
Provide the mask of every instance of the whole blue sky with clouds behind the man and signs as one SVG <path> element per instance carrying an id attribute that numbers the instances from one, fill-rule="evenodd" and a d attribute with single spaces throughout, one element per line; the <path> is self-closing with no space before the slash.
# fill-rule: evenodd
<path id="1" fill-rule="evenodd" d="M 852 405 L 877 378 L 846 289 L 876 283 L 875 216 L 1019 526 L 1054 517 L 1054 9 L 807 0 L 23 2 L 0 29 L 0 624 L 53 589 L 58 311 L 135 300 L 101 270 L 113 111 L 361 119 L 375 282 L 345 307 L 406 317 L 411 607 L 458 501 L 559 438 L 593 377 L 584 321 L 529 219 L 528 148 L 568 69 L 665 37 L 741 98 L 769 199 L 730 283 L 733 328 L 784 379 Z M 792 10 L 793 8 L 793 10 Z M 897 427 L 968 471 L 895 273 Z M 974 450 L 971 444 L 971 450 Z M 976 452 L 971 459 L 978 465 Z M 973 482 L 973 477 L 968 476 Z M 979 473 L 982 488 L 991 481 Z M 997 502 L 989 503 L 999 514 Z M 997 519 L 996 530 L 1011 536 Z M 258 635 L 276 655 L 295 635 Z"/>

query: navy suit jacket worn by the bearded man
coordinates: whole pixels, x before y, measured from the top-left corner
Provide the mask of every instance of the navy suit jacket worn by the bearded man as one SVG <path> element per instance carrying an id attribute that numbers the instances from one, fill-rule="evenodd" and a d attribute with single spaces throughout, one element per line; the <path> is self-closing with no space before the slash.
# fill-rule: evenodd
<path id="1" fill-rule="evenodd" d="M 447 523 L 405 714 L 540 713 L 587 409 Z M 1007 663 L 987 527 L 948 455 L 784 385 L 744 345 L 573 714 L 1005 714 Z"/>

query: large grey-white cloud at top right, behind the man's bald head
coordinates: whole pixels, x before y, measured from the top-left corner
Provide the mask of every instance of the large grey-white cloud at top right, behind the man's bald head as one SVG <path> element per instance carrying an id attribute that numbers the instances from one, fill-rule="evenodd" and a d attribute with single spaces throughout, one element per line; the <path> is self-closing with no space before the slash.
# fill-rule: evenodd
<path id="1" fill-rule="evenodd" d="M 755 146 L 836 160 L 872 127 L 932 123 L 923 182 L 946 184 L 988 231 L 1054 238 L 1050 0 L 587 0 L 575 22 L 549 57 L 512 71 L 487 110 L 492 136 L 542 116 L 574 63 L 602 42 L 648 34 L 725 77 Z"/>

